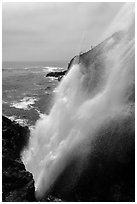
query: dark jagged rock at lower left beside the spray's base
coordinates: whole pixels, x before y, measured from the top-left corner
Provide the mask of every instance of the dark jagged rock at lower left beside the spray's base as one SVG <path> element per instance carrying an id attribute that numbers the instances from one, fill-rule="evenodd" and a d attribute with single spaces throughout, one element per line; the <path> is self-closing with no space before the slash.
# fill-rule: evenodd
<path id="1" fill-rule="evenodd" d="M 2 116 L 2 200 L 35 201 L 33 176 L 27 172 L 20 153 L 27 144 L 29 130 Z"/>

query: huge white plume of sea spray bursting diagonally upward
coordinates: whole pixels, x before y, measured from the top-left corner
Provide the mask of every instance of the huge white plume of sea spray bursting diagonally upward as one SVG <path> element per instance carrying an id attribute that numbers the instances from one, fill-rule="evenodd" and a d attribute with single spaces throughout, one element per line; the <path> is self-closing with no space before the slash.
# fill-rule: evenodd
<path id="1" fill-rule="evenodd" d="M 79 177 L 97 132 L 133 113 L 134 4 L 126 4 L 123 11 L 109 28 L 109 37 L 77 57 L 57 87 L 50 114 L 31 132 L 23 161 L 34 176 L 37 198 L 50 191 L 73 158 Z"/>

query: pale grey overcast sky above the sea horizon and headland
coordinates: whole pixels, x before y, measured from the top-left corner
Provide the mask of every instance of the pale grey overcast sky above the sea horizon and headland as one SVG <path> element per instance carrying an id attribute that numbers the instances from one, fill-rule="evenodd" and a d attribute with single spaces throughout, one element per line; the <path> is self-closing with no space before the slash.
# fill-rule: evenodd
<path id="1" fill-rule="evenodd" d="M 3 61 L 67 61 L 96 45 L 123 3 L 3 3 Z"/>

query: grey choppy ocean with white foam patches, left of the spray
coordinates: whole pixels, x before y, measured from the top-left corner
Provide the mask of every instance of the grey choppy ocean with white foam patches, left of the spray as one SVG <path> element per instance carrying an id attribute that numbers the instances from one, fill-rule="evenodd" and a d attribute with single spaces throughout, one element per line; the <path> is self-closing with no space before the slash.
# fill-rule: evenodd
<path id="1" fill-rule="evenodd" d="M 3 62 L 2 114 L 33 126 L 48 114 L 54 100 L 58 79 L 48 72 L 66 69 L 65 62 Z"/>

